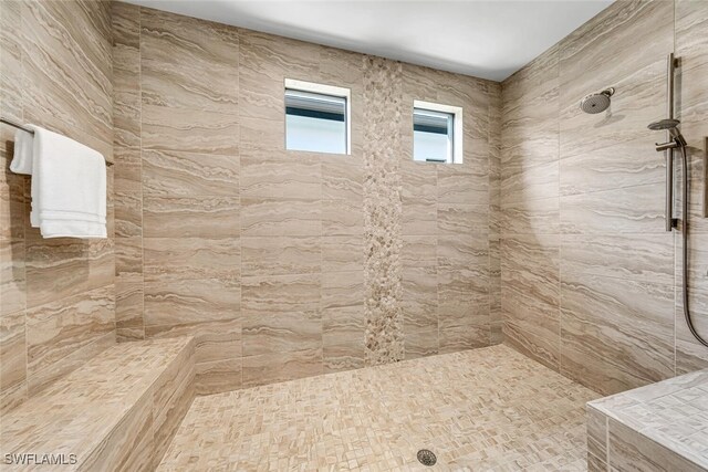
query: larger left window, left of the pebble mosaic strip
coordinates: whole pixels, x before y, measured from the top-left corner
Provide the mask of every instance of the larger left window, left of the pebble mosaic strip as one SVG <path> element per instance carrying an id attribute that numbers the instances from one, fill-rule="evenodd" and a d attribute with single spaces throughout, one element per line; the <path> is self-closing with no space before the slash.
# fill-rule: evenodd
<path id="1" fill-rule="evenodd" d="M 285 149 L 350 154 L 350 90 L 285 78 Z"/>

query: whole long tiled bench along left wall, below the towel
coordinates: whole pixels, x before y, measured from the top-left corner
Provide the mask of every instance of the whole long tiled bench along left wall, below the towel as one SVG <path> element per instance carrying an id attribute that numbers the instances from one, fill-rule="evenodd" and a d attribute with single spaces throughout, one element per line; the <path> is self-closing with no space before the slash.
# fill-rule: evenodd
<path id="1" fill-rule="evenodd" d="M 108 347 L 2 418 L 0 469 L 154 469 L 194 399 L 194 353 L 191 337 Z"/>

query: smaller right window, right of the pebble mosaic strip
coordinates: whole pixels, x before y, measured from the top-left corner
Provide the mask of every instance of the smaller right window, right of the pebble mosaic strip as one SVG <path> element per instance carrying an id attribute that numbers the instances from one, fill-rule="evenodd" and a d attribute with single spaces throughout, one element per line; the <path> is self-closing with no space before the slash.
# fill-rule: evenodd
<path id="1" fill-rule="evenodd" d="M 462 162 L 462 108 L 413 103 L 413 160 Z"/>

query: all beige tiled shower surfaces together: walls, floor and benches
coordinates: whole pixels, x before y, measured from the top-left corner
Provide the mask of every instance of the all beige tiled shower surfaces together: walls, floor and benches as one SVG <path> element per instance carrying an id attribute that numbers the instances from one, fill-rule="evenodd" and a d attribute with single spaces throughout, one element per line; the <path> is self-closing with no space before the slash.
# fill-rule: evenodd
<path id="1" fill-rule="evenodd" d="M 449 470 L 705 470 L 616 432 L 612 401 L 585 445 L 587 401 L 683 375 L 708 398 L 647 129 L 671 52 L 708 334 L 708 1 L 615 1 L 503 82 L 132 3 L 0 1 L 0 115 L 113 164 L 108 238 L 43 239 L 0 126 L 1 452 L 74 451 L 18 431 L 65 432 L 46 424 L 83 382 L 95 405 L 145 394 L 95 420 L 115 424 L 81 470 L 415 470 L 425 441 Z M 351 91 L 347 155 L 284 148 L 287 80 Z M 606 87 L 607 113 L 579 108 Z M 414 161 L 414 101 L 462 111 L 461 162 Z"/>

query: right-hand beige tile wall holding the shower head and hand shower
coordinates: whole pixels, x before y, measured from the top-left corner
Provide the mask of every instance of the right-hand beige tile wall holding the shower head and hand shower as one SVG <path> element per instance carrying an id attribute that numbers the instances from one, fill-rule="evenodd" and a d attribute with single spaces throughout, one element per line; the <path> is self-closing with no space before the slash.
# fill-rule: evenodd
<path id="1" fill-rule="evenodd" d="M 708 3 L 620 1 L 502 84 L 504 338 L 612 394 L 708 366 L 680 311 L 680 241 L 664 231 L 666 54 L 691 159 L 691 310 L 708 335 Z M 675 38 L 676 36 L 676 38 Z M 616 87 L 608 114 L 580 99 Z"/>

